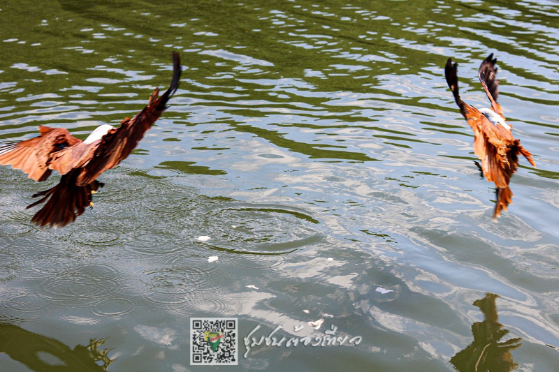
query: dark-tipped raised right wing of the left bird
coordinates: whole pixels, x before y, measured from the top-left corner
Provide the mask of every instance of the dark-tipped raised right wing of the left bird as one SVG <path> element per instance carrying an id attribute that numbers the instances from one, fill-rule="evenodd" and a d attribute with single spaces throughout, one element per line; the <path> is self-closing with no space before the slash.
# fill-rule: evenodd
<path id="1" fill-rule="evenodd" d="M 99 174 L 115 168 L 120 161 L 129 156 L 144 133 L 167 109 L 167 101 L 179 87 L 180 73 L 180 58 L 173 52 L 173 80 L 169 89 L 161 97 L 159 97 L 159 89 L 155 89 L 142 111 L 132 119 L 122 120 L 119 128 L 109 131 L 101 137 L 101 140 L 92 143 L 95 145 L 94 154 L 88 163 L 82 165 L 84 171 L 77 179 L 78 186 L 89 184 L 99 177 Z"/>

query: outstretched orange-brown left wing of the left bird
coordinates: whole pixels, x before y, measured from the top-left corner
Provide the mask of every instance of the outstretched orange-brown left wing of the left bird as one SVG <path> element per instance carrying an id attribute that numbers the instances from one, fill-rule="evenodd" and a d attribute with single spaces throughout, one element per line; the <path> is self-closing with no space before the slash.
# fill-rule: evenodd
<path id="1" fill-rule="evenodd" d="M 82 142 L 64 128 L 39 126 L 38 137 L 0 147 L 0 165 L 20 169 L 35 181 L 45 181 L 52 170 L 50 161 L 59 151 Z"/>

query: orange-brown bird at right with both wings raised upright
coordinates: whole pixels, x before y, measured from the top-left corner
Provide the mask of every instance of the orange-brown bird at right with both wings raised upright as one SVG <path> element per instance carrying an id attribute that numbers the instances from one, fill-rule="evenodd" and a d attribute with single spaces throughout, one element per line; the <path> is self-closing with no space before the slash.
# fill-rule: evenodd
<path id="1" fill-rule="evenodd" d="M 536 166 L 532 160 L 532 154 L 521 146 L 520 140 L 515 140 L 512 136 L 512 126 L 507 124 L 501 106 L 497 103 L 499 80 L 495 80 L 497 76 L 496 61 L 497 59 L 493 59 L 493 53 L 491 53 L 479 66 L 479 81 L 491 101 L 491 108 L 479 110 L 460 99 L 458 64 L 452 64 L 452 59 L 449 58 L 447 66 L 444 68 L 444 75 L 456 104 L 460 107 L 460 112 L 466 118 L 467 124 L 470 124 L 474 130 L 474 154 L 481 160 L 481 171 L 486 179 L 495 182 L 497 187 L 493 219 L 497 219 L 501 215 L 501 211 L 506 211 L 507 205 L 512 203 L 509 181 L 518 167 L 518 155 L 523 155 L 530 164 Z"/>

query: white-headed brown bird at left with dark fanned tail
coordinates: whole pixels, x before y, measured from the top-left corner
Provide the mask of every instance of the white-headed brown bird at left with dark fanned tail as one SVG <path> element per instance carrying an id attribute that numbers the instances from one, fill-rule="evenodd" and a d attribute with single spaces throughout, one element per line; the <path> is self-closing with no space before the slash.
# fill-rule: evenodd
<path id="1" fill-rule="evenodd" d="M 167 101 L 179 87 L 180 73 L 180 58 L 173 52 L 173 80 L 169 89 L 159 97 L 156 88 L 147 106 L 132 119 L 122 120 L 118 128 L 103 124 L 82 141 L 64 128 L 40 126 L 38 137 L 0 146 L 0 165 L 20 169 L 35 181 L 45 181 L 53 170 L 62 176 L 57 186 L 33 195 L 43 198 L 28 209 L 46 204 L 31 221 L 41 227 L 63 227 L 83 214 L 85 208 L 93 207 L 92 194 L 104 185 L 96 178 L 115 168 L 136 148 L 144 133 L 168 108 Z"/>

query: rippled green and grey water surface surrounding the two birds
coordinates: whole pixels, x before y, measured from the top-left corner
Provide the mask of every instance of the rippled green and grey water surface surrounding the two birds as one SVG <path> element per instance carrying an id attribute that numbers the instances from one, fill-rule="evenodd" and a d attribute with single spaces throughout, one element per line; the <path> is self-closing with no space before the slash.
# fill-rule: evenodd
<path id="1" fill-rule="evenodd" d="M 195 316 L 237 317 L 240 336 L 335 325 L 363 338 L 253 348 L 238 370 L 467 371 L 486 345 L 477 329 L 521 338 L 488 365 L 557 370 L 558 3 L 0 9 L 4 139 L 38 125 L 85 138 L 168 84 L 172 50 L 184 65 L 170 109 L 67 228 L 35 228 L 25 209 L 57 177 L 0 168 L 2 371 L 191 371 Z M 490 52 L 538 167 L 521 159 L 498 223 L 442 70 L 453 57 L 463 98 L 486 107 L 477 68 Z"/>

